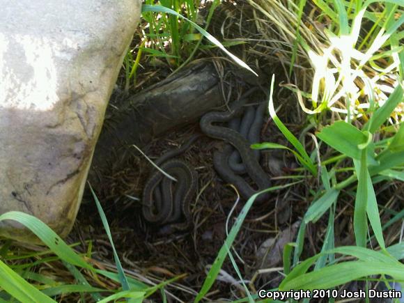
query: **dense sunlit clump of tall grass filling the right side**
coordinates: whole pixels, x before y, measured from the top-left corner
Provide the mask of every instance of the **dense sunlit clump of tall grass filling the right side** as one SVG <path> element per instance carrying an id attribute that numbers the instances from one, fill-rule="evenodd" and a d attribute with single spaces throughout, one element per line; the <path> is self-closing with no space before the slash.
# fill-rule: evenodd
<path id="1" fill-rule="evenodd" d="M 391 274 L 395 281 L 403 283 L 400 274 L 403 264 L 398 262 L 401 256 L 392 256 L 386 247 L 382 232 L 385 228 L 380 219 L 374 189 L 379 178 L 386 174 L 389 178 L 384 178 L 384 182 L 394 184 L 395 180 L 403 180 L 404 140 L 401 133 L 404 128 L 404 61 L 403 50 L 398 47 L 403 33 L 403 3 L 313 1 L 311 8 L 316 13 L 306 24 L 301 22 L 304 14 L 302 5 L 287 9 L 289 2 L 250 3 L 279 26 L 280 36 L 292 49 L 291 63 L 295 59 L 305 61 L 313 68 L 311 91 L 302 93 L 296 89 L 298 83 L 286 87 L 297 94 L 302 109 L 310 115 L 311 123 L 316 123 L 319 145 L 326 144 L 332 151 L 329 157 L 329 148 L 322 148 L 327 153 L 325 157 L 320 155 L 317 165 L 320 166 L 323 186 L 318 188 L 317 198 L 304 215 L 293 258 L 295 267 L 279 289 L 333 288 L 374 274 L 382 274 L 382 280 L 384 274 Z M 292 22 L 282 23 L 283 17 L 290 17 L 291 10 Z M 315 22 L 324 24 L 325 20 L 327 26 L 319 32 Z M 367 33 L 364 31 L 365 24 L 371 27 Z M 311 108 L 306 104 L 311 104 Z M 270 114 L 274 118 L 273 111 L 270 110 Z M 277 126 L 295 146 L 295 153 L 302 155 L 295 138 L 284 132 L 278 123 Z M 386 132 L 387 129 L 391 131 Z M 267 145 L 263 143 L 256 148 L 266 148 Z M 331 159 L 334 160 L 329 161 Z M 344 173 L 344 180 L 339 180 L 336 172 L 342 167 L 351 173 L 348 176 Z M 394 173 L 387 173 L 390 170 Z M 311 169 L 308 171 L 315 176 Z M 366 261 L 355 254 L 351 256 L 358 258 L 358 261 L 335 261 L 336 251 L 347 254 L 343 247 L 339 248 L 341 250 L 334 249 L 335 209 L 339 194 L 347 187 L 355 196 L 353 227 L 357 246 L 352 250 L 355 253 L 362 251 L 362 247 L 367 247 L 375 238 L 380 249 L 378 256 L 384 258 L 385 265 L 373 263 L 374 259 Z M 329 213 L 329 221 L 321 252 L 300 262 L 306 226 L 316 223 L 326 212 Z M 371 251 L 373 254 L 373 250 L 366 250 L 368 254 Z M 317 259 L 320 262 L 311 272 L 307 272 Z M 348 268 L 349 274 L 344 270 Z M 390 270 L 397 271 L 387 273 Z"/>

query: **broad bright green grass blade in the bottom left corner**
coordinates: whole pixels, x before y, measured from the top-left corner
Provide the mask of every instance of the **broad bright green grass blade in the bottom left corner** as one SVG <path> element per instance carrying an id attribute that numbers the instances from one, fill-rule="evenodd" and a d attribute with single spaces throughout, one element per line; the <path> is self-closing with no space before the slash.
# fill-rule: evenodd
<path id="1" fill-rule="evenodd" d="M 0 261 L 0 287 L 20 302 L 55 303 Z"/>

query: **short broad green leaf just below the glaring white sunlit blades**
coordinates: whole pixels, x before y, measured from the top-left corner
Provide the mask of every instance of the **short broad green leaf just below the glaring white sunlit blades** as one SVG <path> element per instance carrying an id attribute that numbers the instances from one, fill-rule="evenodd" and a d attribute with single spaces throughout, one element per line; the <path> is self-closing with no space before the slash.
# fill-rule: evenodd
<path id="1" fill-rule="evenodd" d="M 340 153 L 357 160 L 361 158 L 361 150 L 358 146 L 367 141 L 363 132 L 344 121 L 336 121 L 334 124 L 324 127 L 317 137 Z"/>

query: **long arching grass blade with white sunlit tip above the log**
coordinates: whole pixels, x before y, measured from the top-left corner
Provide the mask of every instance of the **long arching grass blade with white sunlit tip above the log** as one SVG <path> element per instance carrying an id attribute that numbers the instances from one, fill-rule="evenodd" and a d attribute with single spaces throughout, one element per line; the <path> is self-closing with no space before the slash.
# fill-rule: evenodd
<path id="1" fill-rule="evenodd" d="M 244 63 L 242 60 L 238 59 L 236 56 L 231 54 L 231 52 L 228 52 L 228 50 L 222 45 L 222 43 L 219 42 L 219 40 L 217 40 L 215 37 L 210 35 L 210 33 L 205 31 L 204 29 L 202 29 L 201 26 L 199 26 L 195 22 L 192 22 L 191 20 L 187 19 L 186 17 L 178 14 L 176 11 L 171 10 L 170 8 L 164 8 L 164 6 L 149 6 L 146 4 L 143 4 L 143 6 L 141 7 L 141 11 L 142 11 L 142 13 L 143 12 L 168 13 L 171 15 L 176 15 L 177 17 L 180 17 L 184 20 L 187 20 L 187 22 L 191 23 L 192 26 L 194 26 L 194 28 L 197 31 L 199 31 L 203 36 L 205 36 L 205 38 L 207 38 L 210 42 L 212 42 L 214 45 L 219 47 L 219 49 L 222 49 L 222 51 L 225 52 L 231 59 L 233 59 L 233 61 L 235 61 L 235 63 L 242 66 L 242 68 L 249 70 L 250 72 L 252 72 L 254 75 L 256 75 L 258 77 L 256 72 L 254 72 L 254 70 L 251 70 L 251 68 L 246 63 Z"/>

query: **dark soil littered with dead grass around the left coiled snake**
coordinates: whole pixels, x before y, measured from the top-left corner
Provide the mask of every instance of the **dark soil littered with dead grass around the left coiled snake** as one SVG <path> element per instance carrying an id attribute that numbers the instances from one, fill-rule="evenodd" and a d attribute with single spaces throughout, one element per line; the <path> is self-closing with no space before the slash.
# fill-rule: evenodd
<path id="1" fill-rule="evenodd" d="M 288 111 L 287 106 L 285 110 Z M 143 149 L 143 153 L 151 159 L 157 158 L 167 150 L 178 148 L 197 132 L 200 132 L 198 125 L 188 125 L 182 130 L 153 140 Z M 262 141 L 286 143 L 269 119 L 263 125 Z M 223 182 L 212 168 L 212 153 L 218 146 L 219 141 L 201 137 L 186 153 L 179 156 L 196 169 L 199 175 L 199 192 L 191 206 L 194 222 L 192 228 L 169 235 L 159 233 L 161 226 L 145 222 L 141 215 L 141 201 L 137 200 L 141 199 L 152 165 L 136 153 L 126 157 L 123 162 L 114 161 L 111 171 L 107 173 L 108 177 L 104 176 L 104 182 L 96 192 L 98 199 L 102 201 L 116 250 L 125 269 L 140 270 L 147 277 L 161 280 L 185 274 L 178 283 L 195 292 L 200 289 L 207 266 L 213 263 L 226 239 L 226 221 L 227 228 L 230 229 L 245 203 L 242 199 L 237 203 L 235 190 Z M 265 151 L 261 158 L 264 169 L 272 176 L 273 185 L 291 182 L 280 177 L 290 175 L 293 167 L 297 167 L 293 155 Z M 277 238 L 281 231 L 290 229 L 300 219 L 306 209 L 305 190 L 296 185 L 274 192 L 269 201 L 254 205 L 247 215 L 234 248 L 238 254 L 236 262 L 242 276 L 252 279 L 256 275 L 256 281 L 251 283 L 254 288 L 259 289 L 267 283 L 274 286 L 279 283 L 279 274 L 257 275 L 257 270 L 269 263 L 272 267 L 280 266 L 281 259 L 275 258 L 275 263 L 263 261 L 263 256 L 259 255 L 257 258 L 257 249 L 266 240 Z M 229 216 L 232 208 L 233 213 Z M 87 195 L 83 201 L 70 237 L 75 241 L 93 239 L 93 258 L 113 260 L 111 247 L 91 196 Z M 293 241 L 293 237 L 288 240 L 290 241 Z M 233 277 L 234 281 L 238 281 L 230 261 L 224 263 L 222 270 Z M 244 296 L 240 292 L 240 285 L 232 285 L 232 282 L 228 279 L 217 283 L 212 288 L 216 292 L 212 298 Z M 182 290 L 176 290 L 175 286 L 171 293 L 185 302 L 194 297 Z"/>

